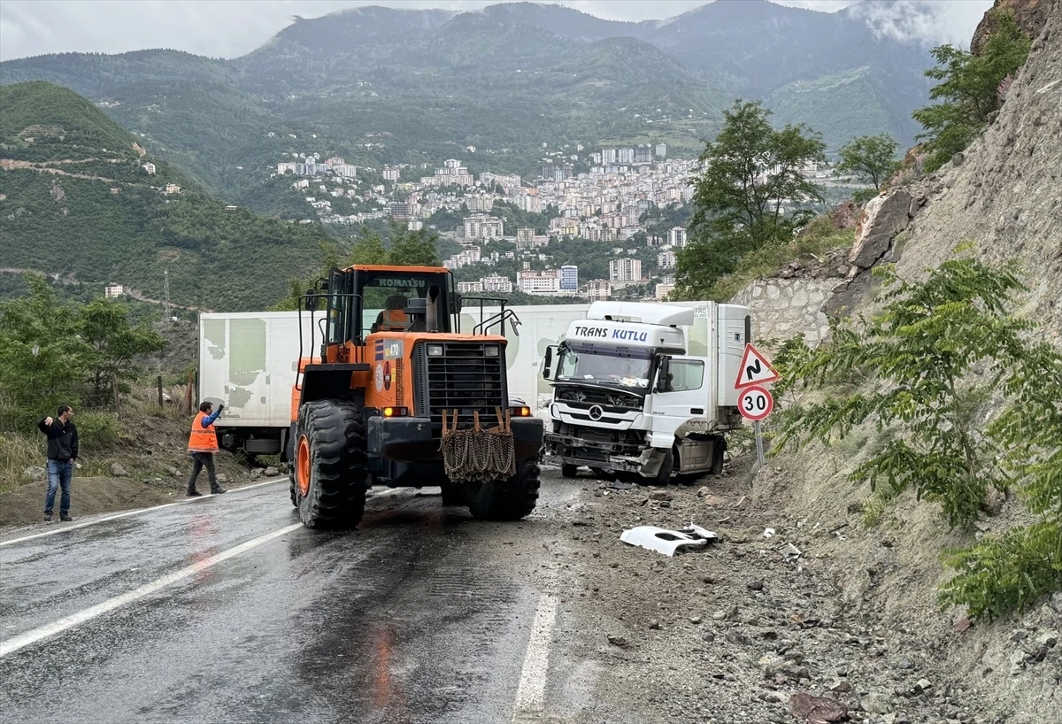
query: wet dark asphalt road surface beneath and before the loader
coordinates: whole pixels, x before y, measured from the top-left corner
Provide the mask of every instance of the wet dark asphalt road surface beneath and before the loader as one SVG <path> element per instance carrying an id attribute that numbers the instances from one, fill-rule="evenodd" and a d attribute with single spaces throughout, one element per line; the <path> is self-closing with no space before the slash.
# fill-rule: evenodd
<path id="1" fill-rule="evenodd" d="M 550 481 L 543 500 L 575 494 Z M 3 546 L 0 642 L 44 637 L 0 645 L 0 717 L 512 721 L 543 591 L 494 553 L 502 539 L 541 549 L 542 518 L 480 523 L 398 490 L 371 499 L 355 533 L 284 532 L 297 522 L 285 481 Z"/>

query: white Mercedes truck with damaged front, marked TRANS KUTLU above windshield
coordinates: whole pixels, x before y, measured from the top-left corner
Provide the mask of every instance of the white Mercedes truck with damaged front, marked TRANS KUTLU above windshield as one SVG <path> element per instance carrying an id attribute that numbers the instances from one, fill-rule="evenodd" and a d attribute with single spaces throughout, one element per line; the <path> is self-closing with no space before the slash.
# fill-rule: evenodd
<path id="1" fill-rule="evenodd" d="M 688 354 L 693 337 L 707 339 L 705 354 Z M 723 432 L 741 427 L 734 381 L 750 337 L 737 305 L 590 305 L 543 360 L 553 386 L 547 451 L 565 477 L 581 466 L 658 484 L 718 475 Z"/>

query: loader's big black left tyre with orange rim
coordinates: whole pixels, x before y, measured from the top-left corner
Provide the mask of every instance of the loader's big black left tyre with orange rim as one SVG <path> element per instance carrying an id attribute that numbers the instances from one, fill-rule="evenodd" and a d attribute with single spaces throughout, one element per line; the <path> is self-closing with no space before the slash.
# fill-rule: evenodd
<path id="1" fill-rule="evenodd" d="M 365 512 L 365 426 L 352 402 L 316 400 L 298 410 L 295 498 L 307 528 L 354 528 Z"/>

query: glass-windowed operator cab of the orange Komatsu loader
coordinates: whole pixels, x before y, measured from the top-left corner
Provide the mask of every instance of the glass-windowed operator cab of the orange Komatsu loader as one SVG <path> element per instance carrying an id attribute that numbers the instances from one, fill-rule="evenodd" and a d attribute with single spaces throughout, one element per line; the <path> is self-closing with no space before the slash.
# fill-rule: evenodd
<path id="1" fill-rule="evenodd" d="M 434 266 L 357 265 L 332 270 L 322 359 L 354 360 L 374 332 L 449 332 L 457 294 L 449 270 Z"/>

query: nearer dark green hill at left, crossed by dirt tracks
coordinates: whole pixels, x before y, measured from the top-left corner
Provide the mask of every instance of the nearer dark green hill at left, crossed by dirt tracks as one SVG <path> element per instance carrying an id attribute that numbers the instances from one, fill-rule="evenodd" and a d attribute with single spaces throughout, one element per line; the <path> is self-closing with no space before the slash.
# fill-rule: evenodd
<path id="1" fill-rule="evenodd" d="M 92 103 L 0 87 L 0 269 L 115 281 L 174 304 L 255 310 L 315 269 L 329 237 L 226 206 Z"/>

